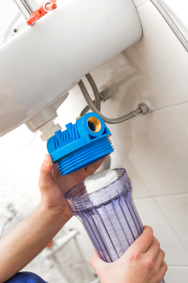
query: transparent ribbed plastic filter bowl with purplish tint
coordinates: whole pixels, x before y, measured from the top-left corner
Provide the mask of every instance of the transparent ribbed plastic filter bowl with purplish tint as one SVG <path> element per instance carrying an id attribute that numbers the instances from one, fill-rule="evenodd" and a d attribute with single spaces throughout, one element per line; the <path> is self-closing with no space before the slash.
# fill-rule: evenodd
<path id="1" fill-rule="evenodd" d="M 81 220 L 95 250 L 105 262 L 120 258 L 144 229 L 126 169 L 113 170 L 118 178 L 100 190 L 88 194 L 82 181 L 65 195 L 73 215 Z M 162 282 L 165 283 L 164 279 Z"/>

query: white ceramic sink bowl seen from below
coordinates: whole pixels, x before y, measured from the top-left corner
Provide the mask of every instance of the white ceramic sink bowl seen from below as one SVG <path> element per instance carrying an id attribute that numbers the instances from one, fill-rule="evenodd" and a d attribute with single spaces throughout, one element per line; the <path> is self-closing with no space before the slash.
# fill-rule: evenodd
<path id="1" fill-rule="evenodd" d="M 0 136 L 142 36 L 132 0 L 64 0 L 0 46 Z"/>

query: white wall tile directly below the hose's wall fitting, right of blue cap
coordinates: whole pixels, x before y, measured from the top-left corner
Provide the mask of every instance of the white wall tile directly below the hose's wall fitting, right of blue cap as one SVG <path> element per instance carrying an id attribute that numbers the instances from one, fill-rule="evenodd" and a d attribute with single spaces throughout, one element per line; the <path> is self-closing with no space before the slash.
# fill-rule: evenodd
<path id="1" fill-rule="evenodd" d="M 173 109 L 137 116 L 110 129 L 152 196 L 188 192 L 188 134 Z"/>

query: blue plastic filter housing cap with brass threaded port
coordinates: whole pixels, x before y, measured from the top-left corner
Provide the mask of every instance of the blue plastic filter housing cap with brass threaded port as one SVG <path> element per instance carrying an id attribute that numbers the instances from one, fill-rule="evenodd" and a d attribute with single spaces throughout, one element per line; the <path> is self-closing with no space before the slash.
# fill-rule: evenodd
<path id="1" fill-rule="evenodd" d="M 56 131 L 47 141 L 47 150 L 62 175 L 68 175 L 109 155 L 111 132 L 96 113 L 77 118 L 67 130 Z"/>

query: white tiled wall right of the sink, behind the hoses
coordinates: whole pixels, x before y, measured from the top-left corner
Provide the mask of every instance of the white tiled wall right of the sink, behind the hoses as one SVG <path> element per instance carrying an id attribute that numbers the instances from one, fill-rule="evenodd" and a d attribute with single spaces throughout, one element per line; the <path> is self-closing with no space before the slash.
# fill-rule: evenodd
<path id="1" fill-rule="evenodd" d="M 188 36 L 187 4 L 163 4 L 170 6 L 169 12 Z M 146 116 L 109 125 L 115 148 L 111 167 L 125 167 L 130 175 L 143 223 L 153 227 L 166 253 L 166 282 L 186 283 L 188 55 L 149 1 L 137 0 L 135 5 L 143 27 L 142 39 L 91 74 L 100 90 L 112 92 L 112 99 L 102 105 L 104 115 L 116 118 L 136 109 L 140 102 L 153 110 Z M 76 93 L 81 98 L 78 88 L 70 97 Z M 78 109 L 76 112 L 79 114 Z"/>

